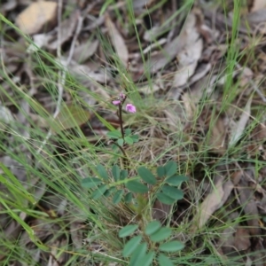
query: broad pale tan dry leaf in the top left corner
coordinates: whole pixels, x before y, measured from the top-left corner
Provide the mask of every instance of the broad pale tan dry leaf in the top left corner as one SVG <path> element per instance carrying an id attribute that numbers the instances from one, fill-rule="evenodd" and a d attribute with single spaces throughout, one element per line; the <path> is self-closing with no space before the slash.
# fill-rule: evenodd
<path id="1" fill-rule="evenodd" d="M 57 6 L 56 2 L 51 1 L 33 2 L 23 12 L 20 12 L 16 23 L 24 34 L 36 34 L 43 26 L 55 20 Z"/>

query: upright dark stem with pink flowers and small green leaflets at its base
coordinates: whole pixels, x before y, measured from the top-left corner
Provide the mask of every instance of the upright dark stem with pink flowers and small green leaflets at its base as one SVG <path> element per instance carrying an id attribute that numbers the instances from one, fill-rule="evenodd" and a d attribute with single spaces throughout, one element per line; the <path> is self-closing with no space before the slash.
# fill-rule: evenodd
<path id="1" fill-rule="evenodd" d="M 122 120 L 122 106 L 125 104 L 127 96 L 123 93 L 119 95 L 119 97 L 112 101 L 114 106 L 118 107 L 117 116 L 119 118 L 120 130 L 113 130 L 107 133 L 107 136 L 113 139 L 113 144 L 118 145 L 121 149 L 121 152 L 125 155 L 122 146 L 124 144 L 132 145 L 133 143 L 138 141 L 137 135 L 131 134 L 131 129 L 123 128 L 123 120 Z M 125 111 L 129 113 L 136 113 L 137 108 L 132 104 L 126 104 Z M 115 141 L 114 141 L 115 140 Z"/>

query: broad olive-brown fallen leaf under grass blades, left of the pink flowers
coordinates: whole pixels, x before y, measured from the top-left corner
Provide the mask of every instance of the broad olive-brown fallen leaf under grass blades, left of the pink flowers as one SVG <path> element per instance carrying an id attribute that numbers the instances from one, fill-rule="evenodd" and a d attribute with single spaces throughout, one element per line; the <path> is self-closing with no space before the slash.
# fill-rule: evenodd
<path id="1" fill-rule="evenodd" d="M 84 110 L 81 106 L 74 104 L 64 105 L 60 108 L 59 115 L 51 124 L 51 129 L 54 132 L 59 132 L 65 129 L 72 129 L 81 126 L 90 119 L 90 112 Z"/>

